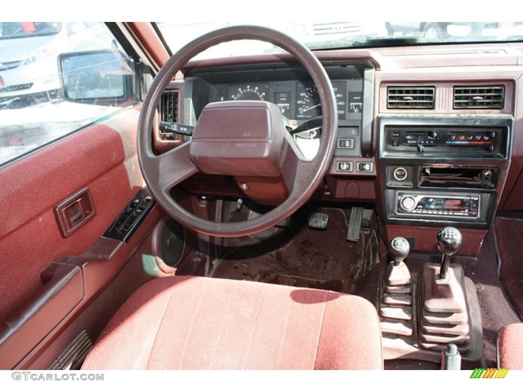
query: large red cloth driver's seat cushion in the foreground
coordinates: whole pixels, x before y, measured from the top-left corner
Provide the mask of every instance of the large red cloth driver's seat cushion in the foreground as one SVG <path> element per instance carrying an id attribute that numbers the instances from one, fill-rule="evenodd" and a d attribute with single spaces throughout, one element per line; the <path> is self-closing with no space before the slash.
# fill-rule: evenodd
<path id="1" fill-rule="evenodd" d="M 376 309 L 358 296 L 173 276 L 137 290 L 84 370 L 382 369 Z"/>

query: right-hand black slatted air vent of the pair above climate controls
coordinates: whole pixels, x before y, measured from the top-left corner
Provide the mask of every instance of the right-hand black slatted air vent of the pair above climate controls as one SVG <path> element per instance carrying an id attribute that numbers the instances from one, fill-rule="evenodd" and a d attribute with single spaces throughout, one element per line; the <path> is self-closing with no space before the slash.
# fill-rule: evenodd
<path id="1" fill-rule="evenodd" d="M 454 86 L 454 109 L 503 109 L 504 86 Z"/>

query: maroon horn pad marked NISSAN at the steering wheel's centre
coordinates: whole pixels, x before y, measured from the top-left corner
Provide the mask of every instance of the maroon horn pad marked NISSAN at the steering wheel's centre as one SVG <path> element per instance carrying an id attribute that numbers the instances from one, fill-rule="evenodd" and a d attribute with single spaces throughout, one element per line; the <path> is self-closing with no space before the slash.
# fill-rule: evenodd
<path id="1" fill-rule="evenodd" d="M 190 157 L 206 174 L 278 177 L 286 132 L 274 103 L 209 103 L 192 136 Z"/>

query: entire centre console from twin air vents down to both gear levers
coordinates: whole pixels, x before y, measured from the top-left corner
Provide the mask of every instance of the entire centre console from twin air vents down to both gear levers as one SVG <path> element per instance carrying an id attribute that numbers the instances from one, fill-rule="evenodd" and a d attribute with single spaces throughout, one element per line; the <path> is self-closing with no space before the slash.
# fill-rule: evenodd
<path id="1" fill-rule="evenodd" d="M 466 88 L 467 110 L 457 106 L 463 91 L 452 83 L 380 87 L 378 209 L 393 260 L 376 298 L 385 359 L 439 363 L 459 353 L 462 368 L 485 366 L 481 310 L 465 272 L 510 165 L 512 99 L 507 93 L 494 110 L 498 87 Z"/>

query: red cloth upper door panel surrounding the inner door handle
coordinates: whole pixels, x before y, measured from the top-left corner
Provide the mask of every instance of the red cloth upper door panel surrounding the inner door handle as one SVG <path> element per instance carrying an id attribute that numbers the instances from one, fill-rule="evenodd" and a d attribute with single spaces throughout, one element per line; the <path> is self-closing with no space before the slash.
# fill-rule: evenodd
<path id="1" fill-rule="evenodd" d="M 137 109 L 0 169 L 0 321 L 42 287 L 40 273 L 54 260 L 88 250 L 143 185 Z M 83 187 L 92 193 L 96 215 L 63 238 L 54 206 Z"/>

